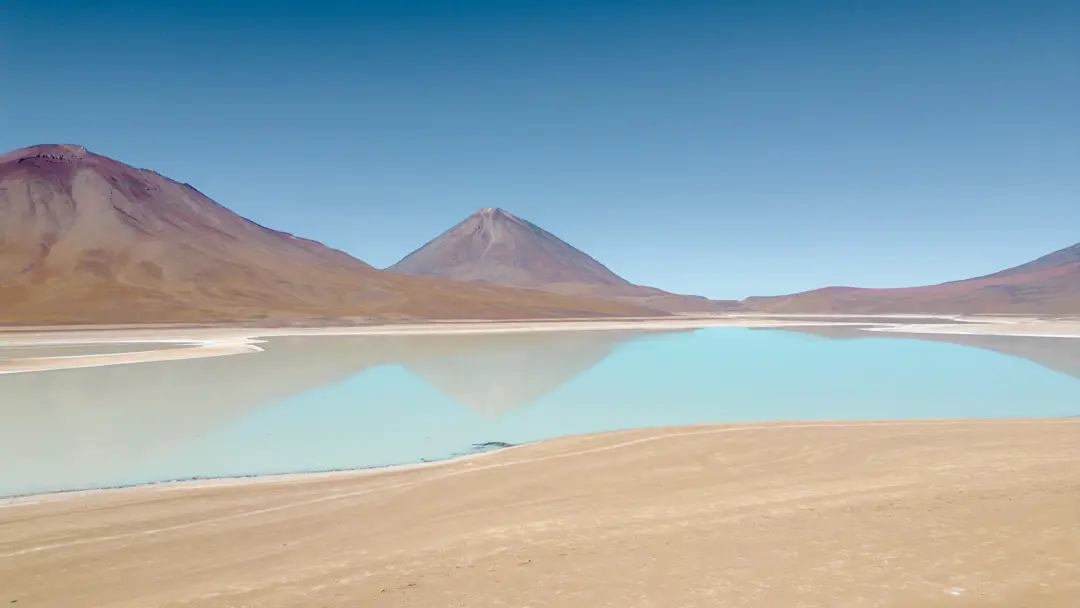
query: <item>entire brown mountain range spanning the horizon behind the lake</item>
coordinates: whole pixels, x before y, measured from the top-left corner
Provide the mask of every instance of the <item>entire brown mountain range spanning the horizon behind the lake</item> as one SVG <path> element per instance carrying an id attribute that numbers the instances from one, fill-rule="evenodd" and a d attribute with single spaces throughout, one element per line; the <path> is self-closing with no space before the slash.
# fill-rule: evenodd
<path id="1" fill-rule="evenodd" d="M 742 302 L 635 285 L 485 207 L 387 270 L 78 145 L 0 154 L 0 323 L 1080 312 L 1080 244 L 995 273 Z"/>

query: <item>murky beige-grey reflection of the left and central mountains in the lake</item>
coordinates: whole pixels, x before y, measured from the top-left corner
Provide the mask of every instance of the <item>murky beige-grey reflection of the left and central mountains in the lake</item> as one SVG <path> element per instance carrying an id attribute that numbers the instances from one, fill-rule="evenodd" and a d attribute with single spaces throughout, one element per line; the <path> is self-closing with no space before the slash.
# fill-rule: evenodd
<path id="1" fill-rule="evenodd" d="M 0 496 L 120 483 L 231 421 L 365 370 L 404 366 L 498 416 L 649 332 L 284 337 L 266 352 L 0 376 Z M 15 464 L 19 463 L 19 464 Z"/>

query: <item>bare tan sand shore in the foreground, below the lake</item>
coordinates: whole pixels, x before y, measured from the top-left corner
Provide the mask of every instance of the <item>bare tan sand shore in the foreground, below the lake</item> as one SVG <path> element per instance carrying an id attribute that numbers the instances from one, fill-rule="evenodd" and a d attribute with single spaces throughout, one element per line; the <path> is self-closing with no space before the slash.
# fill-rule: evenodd
<path id="1" fill-rule="evenodd" d="M 567 437 L 0 508 L 0 604 L 1080 605 L 1080 420 Z"/>

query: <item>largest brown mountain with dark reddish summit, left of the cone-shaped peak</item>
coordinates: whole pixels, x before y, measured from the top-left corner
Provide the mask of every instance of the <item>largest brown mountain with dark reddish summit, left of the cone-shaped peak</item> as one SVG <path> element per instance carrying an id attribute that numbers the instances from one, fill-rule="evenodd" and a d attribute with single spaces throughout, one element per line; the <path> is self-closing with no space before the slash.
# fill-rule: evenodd
<path id="1" fill-rule="evenodd" d="M 0 323 L 654 314 L 379 271 L 80 146 L 0 156 Z"/>

